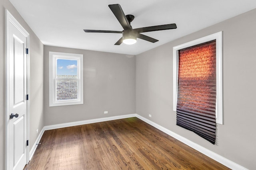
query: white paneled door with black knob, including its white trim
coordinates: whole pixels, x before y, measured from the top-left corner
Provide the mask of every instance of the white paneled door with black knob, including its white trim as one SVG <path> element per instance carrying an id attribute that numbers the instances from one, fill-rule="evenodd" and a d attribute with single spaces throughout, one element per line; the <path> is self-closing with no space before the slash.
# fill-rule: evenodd
<path id="1" fill-rule="evenodd" d="M 27 164 L 27 63 L 28 35 L 6 11 L 7 33 L 7 146 L 8 170 Z"/>

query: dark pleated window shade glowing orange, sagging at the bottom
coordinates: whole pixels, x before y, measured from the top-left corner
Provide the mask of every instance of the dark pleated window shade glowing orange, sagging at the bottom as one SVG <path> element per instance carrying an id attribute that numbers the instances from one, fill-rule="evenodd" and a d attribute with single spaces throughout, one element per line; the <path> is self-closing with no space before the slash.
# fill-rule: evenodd
<path id="1" fill-rule="evenodd" d="M 216 141 L 216 40 L 179 50 L 177 120 Z"/>

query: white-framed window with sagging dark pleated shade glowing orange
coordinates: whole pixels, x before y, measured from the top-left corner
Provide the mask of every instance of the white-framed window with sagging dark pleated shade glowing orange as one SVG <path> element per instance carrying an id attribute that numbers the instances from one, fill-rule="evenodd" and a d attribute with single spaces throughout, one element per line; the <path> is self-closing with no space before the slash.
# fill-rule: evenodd
<path id="1" fill-rule="evenodd" d="M 177 125 L 215 143 L 222 124 L 222 32 L 173 48 Z"/>

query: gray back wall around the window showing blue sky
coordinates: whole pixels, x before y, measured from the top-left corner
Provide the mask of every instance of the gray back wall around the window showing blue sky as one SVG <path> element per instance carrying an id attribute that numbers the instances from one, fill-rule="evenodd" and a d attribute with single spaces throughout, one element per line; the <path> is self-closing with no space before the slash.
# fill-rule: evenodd
<path id="1" fill-rule="evenodd" d="M 84 104 L 49 107 L 49 51 L 84 55 Z M 134 113 L 134 56 L 44 46 L 44 125 Z"/>

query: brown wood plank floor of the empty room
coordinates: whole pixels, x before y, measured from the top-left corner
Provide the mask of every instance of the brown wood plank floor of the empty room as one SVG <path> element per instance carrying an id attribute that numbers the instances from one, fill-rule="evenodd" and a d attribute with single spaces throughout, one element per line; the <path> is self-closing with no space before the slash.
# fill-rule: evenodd
<path id="1" fill-rule="evenodd" d="M 136 117 L 45 131 L 24 170 L 229 169 Z"/>

